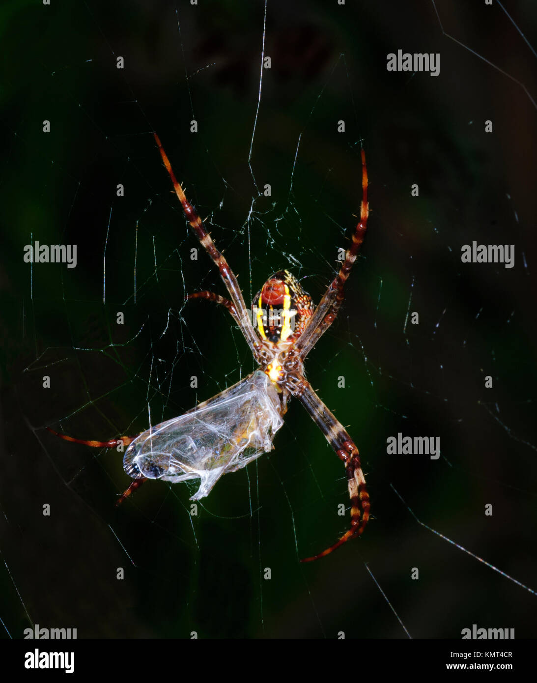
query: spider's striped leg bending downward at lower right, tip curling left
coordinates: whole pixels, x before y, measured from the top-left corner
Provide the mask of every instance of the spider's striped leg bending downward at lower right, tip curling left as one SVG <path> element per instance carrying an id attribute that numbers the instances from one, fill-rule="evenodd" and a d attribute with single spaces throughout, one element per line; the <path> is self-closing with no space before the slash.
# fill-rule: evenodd
<path id="1" fill-rule="evenodd" d="M 366 479 L 361 469 L 359 452 L 348 432 L 320 400 L 309 382 L 301 376 L 299 376 L 299 389 L 293 391 L 293 395 L 298 398 L 307 410 L 307 413 L 309 413 L 309 416 L 312 417 L 322 433 L 325 434 L 328 443 L 335 450 L 338 458 L 343 460 L 347 475 L 348 495 L 350 497 L 350 529 L 342 535 L 340 540 L 336 541 L 326 550 L 323 550 L 322 553 L 301 560 L 301 562 L 311 562 L 314 559 L 329 555 L 350 538 L 361 535 L 368 523 L 370 503 L 369 494 L 366 489 Z"/>

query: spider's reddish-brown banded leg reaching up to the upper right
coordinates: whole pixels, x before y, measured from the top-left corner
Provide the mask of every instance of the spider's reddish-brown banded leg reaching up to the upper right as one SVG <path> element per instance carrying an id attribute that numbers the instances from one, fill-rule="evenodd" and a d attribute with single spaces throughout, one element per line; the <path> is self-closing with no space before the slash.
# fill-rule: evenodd
<path id="1" fill-rule="evenodd" d="M 345 260 L 340 272 L 331 282 L 325 295 L 320 300 L 313 316 L 309 318 L 305 330 L 294 343 L 294 348 L 299 351 L 299 359 L 303 361 L 307 354 L 314 348 L 320 337 L 327 331 L 329 326 L 338 315 L 343 303 L 343 288 L 350 274 L 350 270 L 356 261 L 358 252 L 363 242 L 363 237 L 368 228 L 369 204 L 368 204 L 368 168 L 366 166 L 366 152 L 361 150 L 361 187 L 362 199 L 360 205 L 360 220 L 353 233 L 353 243 L 345 253 Z"/>

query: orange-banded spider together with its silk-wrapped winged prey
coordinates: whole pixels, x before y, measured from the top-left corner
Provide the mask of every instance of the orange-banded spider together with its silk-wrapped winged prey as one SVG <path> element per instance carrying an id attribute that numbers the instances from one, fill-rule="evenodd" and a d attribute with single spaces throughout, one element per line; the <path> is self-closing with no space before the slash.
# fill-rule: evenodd
<path id="1" fill-rule="evenodd" d="M 362 199 L 360 218 L 340 272 L 330 283 L 317 307 L 288 270 L 269 277 L 252 303 L 250 316 L 236 276 L 215 247 L 202 219 L 184 195 L 174 171 L 154 134 L 163 163 L 174 185 L 184 216 L 220 271 L 230 298 L 214 292 L 195 292 L 187 299 L 204 298 L 225 306 L 238 324 L 258 363 L 258 370 L 184 415 L 151 427 L 137 436 L 109 441 L 83 441 L 47 429 L 66 441 L 97 448 L 128 446 L 124 469 L 134 479 L 118 505 L 147 479 L 181 482 L 200 479 L 191 500 L 206 496 L 224 473 L 244 467 L 273 448 L 275 432 L 283 423 L 291 396 L 297 398 L 320 428 L 338 458 L 343 461 L 350 497 L 350 528 L 333 545 L 309 562 L 329 555 L 350 538 L 361 535 L 369 518 L 370 502 L 358 449 L 342 424 L 318 398 L 305 378 L 303 363 L 309 351 L 335 320 L 344 298 L 344 285 L 356 260 L 367 229 L 368 171 L 361 150 Z"/>

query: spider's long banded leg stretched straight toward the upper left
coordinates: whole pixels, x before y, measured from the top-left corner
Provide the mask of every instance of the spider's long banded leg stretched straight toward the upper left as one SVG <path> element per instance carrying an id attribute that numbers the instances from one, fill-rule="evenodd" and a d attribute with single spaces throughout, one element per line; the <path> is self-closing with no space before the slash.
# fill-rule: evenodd
<path id="1" fill-rule="evenodd" d="M 228 265 L 228 262 L 225 260 L 225 257 L 215 247 L 215 243 L 212 241 L 210 234 L 208 234 L 208 232 L 206 231 L 202 219 L 197 214 L 195 208 L 190 204 L 189 200 L 187 199 L 186 195 L 182 190 L 182 187 L 177 182 L 175 173 L 171 168 L 171 164 L 169 163 L 167 154 L 164 151 L 159 136 L 156 135 L 156 133 L 154 133 L 154 139 L 159 147 L 159 152 L 161 152 L 161 157 L 166 167 L 166 170 L 168 171 L 168 175 L 171 178 L 171 182 L 174 184 L 174 190 L 179 201 L 181 202 L 184 215 L 187 218 L 187 221 L 189 221 L 189 225 L 193 229 L 195 236 L 198 238 L 202 247 L 204 247 L 208 255 L 212 258 L 212 261 L 218 267 L 220 271 L 220 276 L 223 280 L 223 283 L 225 284 L 226 289 L 230 293 L 231 301 L 237 312 L 237 318 L 239 321 L 240 329 L 243 332 L 243 335 L 247 341 L 247 344 L 251 348 L 251 351 L 253 352 L 254 356 L 256 356 L 256 350 L 260 348 L 261 344 L 258 337 L 256 337 L 256 333 L 253 330 L 253 327 L 251 326 L 249 311 L 246 307 L 245 300 L 243 298 L 243 293 L 240 291 L 240 287 L 238 286 L 237 279 L 232 269 Z"/>

